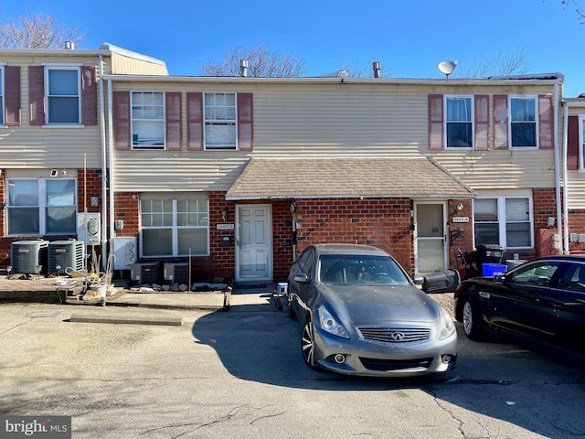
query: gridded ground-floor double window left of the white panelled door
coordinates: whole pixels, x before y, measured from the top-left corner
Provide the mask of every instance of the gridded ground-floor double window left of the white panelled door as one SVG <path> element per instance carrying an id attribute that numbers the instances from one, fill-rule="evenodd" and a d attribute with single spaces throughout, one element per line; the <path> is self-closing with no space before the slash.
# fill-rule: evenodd
<path id="1" fill-rule="evenodd" d="M 140 198 L 141 255 L 207 256 L 207 194 L 146 194 Z"/>

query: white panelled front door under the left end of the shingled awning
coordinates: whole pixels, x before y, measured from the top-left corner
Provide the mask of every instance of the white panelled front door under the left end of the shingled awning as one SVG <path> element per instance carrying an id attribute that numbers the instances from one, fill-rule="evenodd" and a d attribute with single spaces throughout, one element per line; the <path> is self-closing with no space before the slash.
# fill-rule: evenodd
<path id="1" fill-rule="evenodd" d="M 239 205 L 237 215 L 236 280 L 271 280 L 271 206 Z"/>

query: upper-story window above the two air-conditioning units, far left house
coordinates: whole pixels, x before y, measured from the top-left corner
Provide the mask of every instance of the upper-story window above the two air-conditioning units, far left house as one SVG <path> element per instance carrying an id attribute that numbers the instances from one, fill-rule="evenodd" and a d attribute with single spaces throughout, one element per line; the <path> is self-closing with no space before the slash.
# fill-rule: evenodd
<path id="1" fill-rule="evenodd" d="M 81 78 L 78 67 L 47 67 L 47 123 L 80 124 Z"/>

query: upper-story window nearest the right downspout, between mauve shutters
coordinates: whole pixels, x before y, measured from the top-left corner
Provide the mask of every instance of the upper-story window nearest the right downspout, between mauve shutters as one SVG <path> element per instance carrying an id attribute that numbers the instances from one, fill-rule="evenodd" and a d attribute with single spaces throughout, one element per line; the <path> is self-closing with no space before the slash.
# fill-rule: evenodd
<path id="1" fill-rule="evenodd" d="M 534 147 L 537 144 L 537 97 L 510 97 L 510 146 Z"/>

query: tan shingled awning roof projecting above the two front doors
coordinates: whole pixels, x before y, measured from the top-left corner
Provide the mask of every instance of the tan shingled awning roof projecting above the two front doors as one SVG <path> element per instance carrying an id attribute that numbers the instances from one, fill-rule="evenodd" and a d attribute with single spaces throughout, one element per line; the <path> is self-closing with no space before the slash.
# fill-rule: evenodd
<path id="1" fill-rule="evenodd" d="M 430 158 L 252 158 L 226 199 L 473 198 Z"/>

